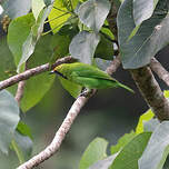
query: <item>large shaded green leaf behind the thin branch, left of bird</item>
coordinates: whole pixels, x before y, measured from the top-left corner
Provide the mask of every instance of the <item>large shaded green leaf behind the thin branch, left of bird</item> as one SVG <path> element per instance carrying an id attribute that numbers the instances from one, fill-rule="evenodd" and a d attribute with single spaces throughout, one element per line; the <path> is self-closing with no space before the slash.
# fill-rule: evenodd
<path id="1" fill-rule="evenodd" d="M 50 34 L 40 38 L 36 46 L 34 53 L 29 58 L 28 68 L 34 68 L 49 62 L 52 53 L 52 49 L 49 46 L 51 38 L 52 36 Z M 20 103 L 23 112 L 36 106 L 44 97 L 53 83 L 53 80 L 54 77 L 49 74 L 49 72 L 43 72 L 27 80 L 24 95 Z"/>

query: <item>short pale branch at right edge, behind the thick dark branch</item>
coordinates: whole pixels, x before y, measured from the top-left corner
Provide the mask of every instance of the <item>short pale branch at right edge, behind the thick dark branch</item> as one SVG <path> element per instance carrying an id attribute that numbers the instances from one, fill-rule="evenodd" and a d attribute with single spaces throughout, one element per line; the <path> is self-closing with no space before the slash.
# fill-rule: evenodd
<path id="1" fill-rule="evenodd" d="M 158 77 L 169 86 L 169 72 L 162 67 L 162 64 L 156 59 L 152 58 L 150 62 L 150 68 L 155 71 Z"/>

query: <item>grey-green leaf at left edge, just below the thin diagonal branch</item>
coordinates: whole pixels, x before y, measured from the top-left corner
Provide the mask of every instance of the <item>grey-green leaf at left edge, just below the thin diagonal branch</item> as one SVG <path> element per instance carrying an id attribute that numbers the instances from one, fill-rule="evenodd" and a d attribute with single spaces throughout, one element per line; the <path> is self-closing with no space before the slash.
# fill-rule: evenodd
<path id="1" fill-rule="evenodd" d="M 8 153 L 19 119 L 19 107 L 13 96 L 7 90 L 0 91 L 0 150 L 4 153 Z"/>

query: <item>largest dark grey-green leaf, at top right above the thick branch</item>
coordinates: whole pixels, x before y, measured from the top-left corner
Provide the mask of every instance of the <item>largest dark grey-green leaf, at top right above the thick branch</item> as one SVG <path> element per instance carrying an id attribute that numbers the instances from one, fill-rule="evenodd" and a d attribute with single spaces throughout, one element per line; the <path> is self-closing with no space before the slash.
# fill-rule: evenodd
<path id="1" fill-rule="evenodd" d="M 161 0 L 152 17 L 140 26 L 132 39 L 128 40 L 135 28 L 132 0 L 126 0 L 118 13 L 118 37 L 121 60 L 125 69 L 136 69 L 150 62 L 150 59 L 169 42 L 168 1 Z M 160 14 L 159 14 L 160 13 Z"/>

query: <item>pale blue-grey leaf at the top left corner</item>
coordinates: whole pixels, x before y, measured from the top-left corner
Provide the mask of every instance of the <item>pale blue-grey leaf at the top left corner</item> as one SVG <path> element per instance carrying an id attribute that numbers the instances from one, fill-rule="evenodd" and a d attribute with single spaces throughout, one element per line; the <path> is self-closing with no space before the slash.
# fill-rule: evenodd
<path id="1" fill-rule="evenodd" d="M 9 18 L 14 19 L 27 14 L 31 8 L 31 0 L 6 0 L 2 3 L 3 14 L 8 14 Z"/>

